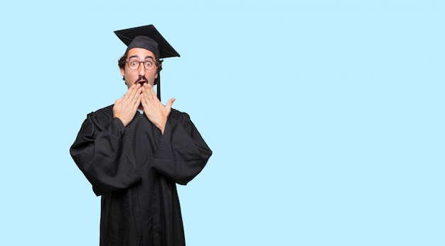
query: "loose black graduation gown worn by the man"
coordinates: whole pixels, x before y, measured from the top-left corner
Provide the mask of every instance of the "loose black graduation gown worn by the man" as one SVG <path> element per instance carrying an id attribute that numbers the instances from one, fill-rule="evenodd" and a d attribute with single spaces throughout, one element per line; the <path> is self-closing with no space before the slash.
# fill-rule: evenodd
<path id="1" fill-rule="evenodd" d="M 187 113 L 172 109 L 162 135 L 144 114 L 125 128 L 112 106 L 102 108 L 88 114 L 70 154 L 102 196 L 100 245 L 185 245 L 176 183 L 212 155 Z"/>

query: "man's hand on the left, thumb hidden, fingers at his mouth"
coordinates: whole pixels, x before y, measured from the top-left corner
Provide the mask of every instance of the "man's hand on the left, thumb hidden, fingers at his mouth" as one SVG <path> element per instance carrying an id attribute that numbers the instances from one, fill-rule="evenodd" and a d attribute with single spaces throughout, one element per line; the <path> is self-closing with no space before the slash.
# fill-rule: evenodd
<path id="1" fill-rule="evenodd" d="M 132 122 L 136 110 L 141 104 L 141 85 L 133 84 L 127 93 L 120 99 L 114 102 L 113 117 L 119 118 L 124 126 Z"/>

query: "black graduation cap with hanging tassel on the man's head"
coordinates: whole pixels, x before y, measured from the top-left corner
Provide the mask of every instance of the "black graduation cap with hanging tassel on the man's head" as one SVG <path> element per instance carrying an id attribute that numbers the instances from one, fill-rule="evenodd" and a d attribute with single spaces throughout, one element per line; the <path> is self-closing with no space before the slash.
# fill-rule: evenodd
<path id="1" fill-rule="evenodd" d="M 128 28 L 123 30 L 115 30 L 114 34 L 127 45 L 127 50 L 134 47 L 141 47 L 153 52 L 156 59 L 167 57 L 180 57 L 179 53 L 171 47 L 165 38 L 159 33 L 153 25 L 139 26 L 136 28 Z M 157 94 L 161 101 L 161 75 L 154 80 L 157 84 Z"/>

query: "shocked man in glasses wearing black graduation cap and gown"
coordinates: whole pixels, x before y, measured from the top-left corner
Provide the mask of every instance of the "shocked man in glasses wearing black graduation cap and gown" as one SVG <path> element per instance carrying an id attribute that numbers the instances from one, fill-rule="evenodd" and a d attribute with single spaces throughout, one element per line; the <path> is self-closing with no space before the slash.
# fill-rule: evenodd
<path id="1" fill-rule="evenodd" d="M 127 93 L 87 115 L 73 160 L 102 196 L 100 245 L 185 245 L 176 183 L 187 184 L 212 151 L 188 114 L 164 106 L 161 58 L 179 56 L 154 26 L 118 30 Z"/>

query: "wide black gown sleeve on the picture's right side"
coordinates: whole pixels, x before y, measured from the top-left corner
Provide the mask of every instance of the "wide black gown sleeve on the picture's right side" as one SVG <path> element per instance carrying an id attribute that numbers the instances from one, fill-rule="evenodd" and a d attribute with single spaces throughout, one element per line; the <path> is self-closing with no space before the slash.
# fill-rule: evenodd
<path id="1" fill-rule="evenodd" d="M 186 185 L 205 167 L 212 151 L 187 113 L 172 109 L 154 158 L 153 168 Z"/>

